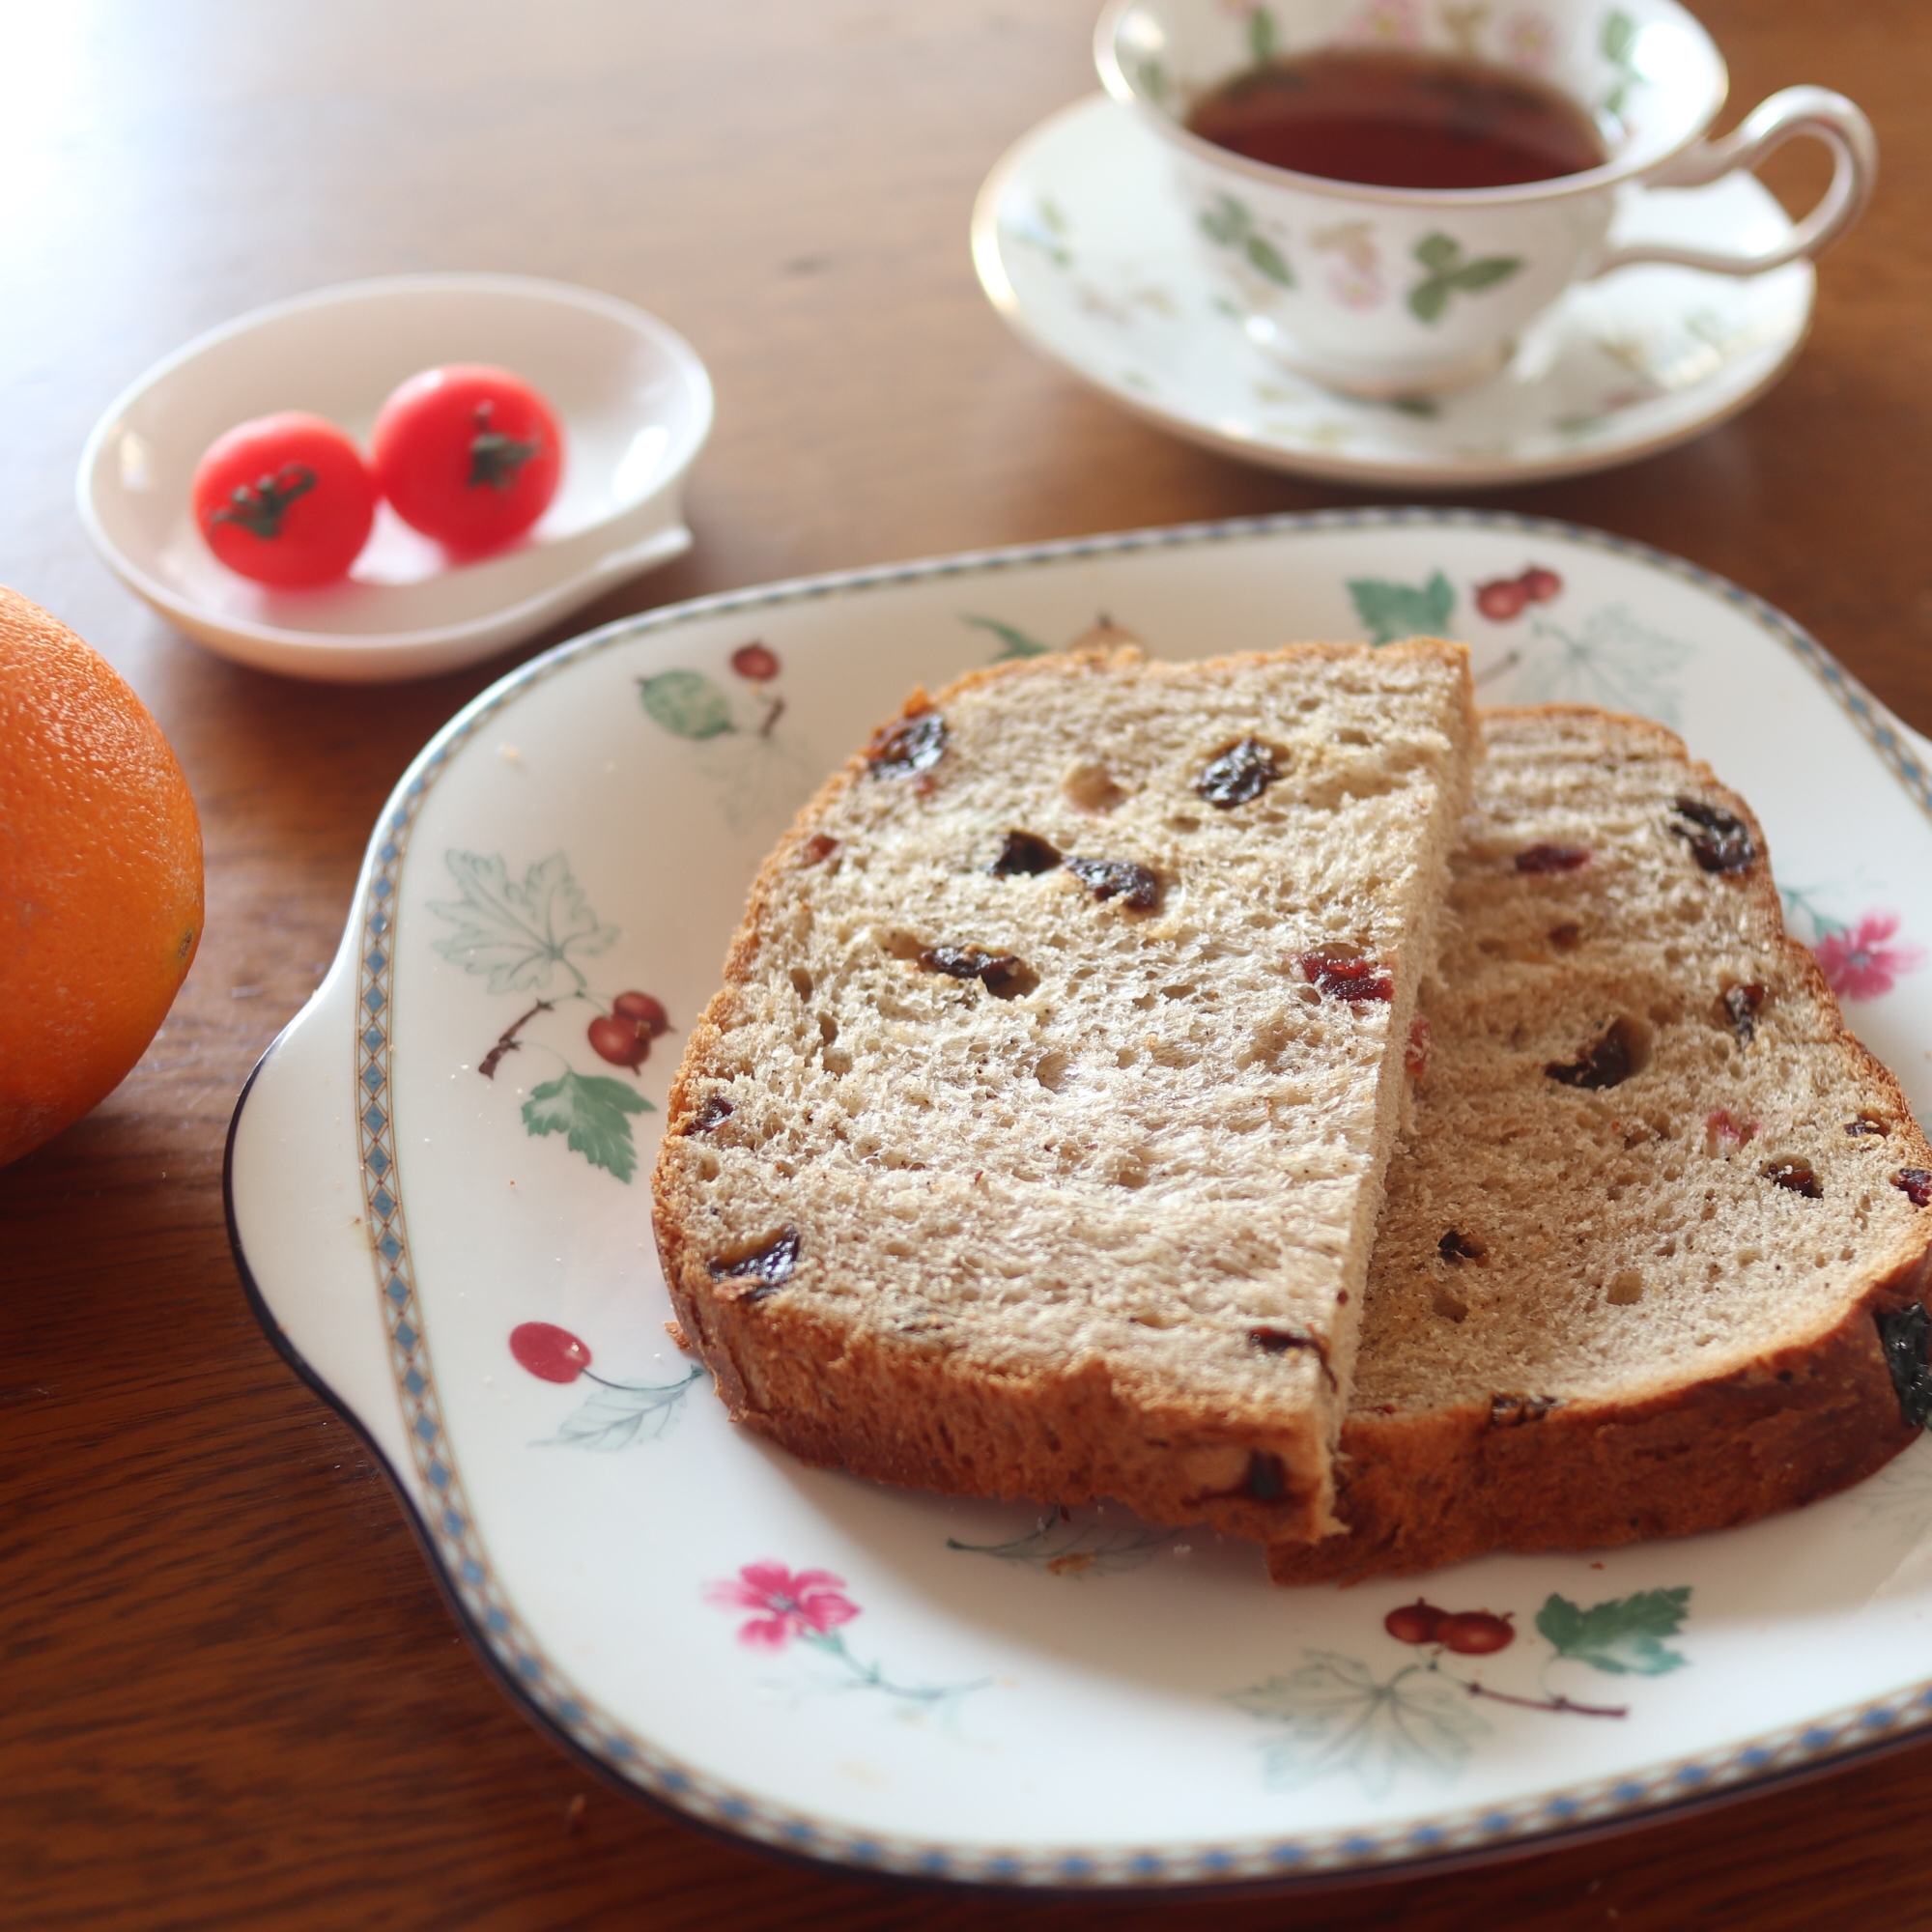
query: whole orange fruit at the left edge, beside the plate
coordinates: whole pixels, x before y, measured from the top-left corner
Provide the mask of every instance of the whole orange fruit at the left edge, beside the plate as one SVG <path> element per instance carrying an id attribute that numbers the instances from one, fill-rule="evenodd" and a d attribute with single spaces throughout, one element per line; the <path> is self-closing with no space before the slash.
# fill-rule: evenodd
<path id="1" fill-rule="evenodd" d="M 0 587 L 0 1165 L 104 1099 L 201 941 L 201 819 L 160 726 Z"/>

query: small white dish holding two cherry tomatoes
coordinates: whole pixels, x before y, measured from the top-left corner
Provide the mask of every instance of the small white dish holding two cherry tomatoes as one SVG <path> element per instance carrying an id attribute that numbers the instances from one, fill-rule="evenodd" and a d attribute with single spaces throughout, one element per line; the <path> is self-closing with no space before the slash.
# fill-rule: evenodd
<path id="1" fill-rule="evenodd" d="M 514 369 L 564 423 L 562 487 L 527 537 L 454 564 L 383 504 L 342 583 L 272 591 L 214 560 L 189 481 L 224 429 L 309 410 L 367 446 L 398 383 L 458 361 Z M 398 274 L 255 309 L 156 363 L 89 435 L 79 510 L 128 587 L 211 651 L 375 684 L 475 663 L 688 551 L 684 473 L 709 433 L 705 365 L 643 309 L 518 274 Z"/>

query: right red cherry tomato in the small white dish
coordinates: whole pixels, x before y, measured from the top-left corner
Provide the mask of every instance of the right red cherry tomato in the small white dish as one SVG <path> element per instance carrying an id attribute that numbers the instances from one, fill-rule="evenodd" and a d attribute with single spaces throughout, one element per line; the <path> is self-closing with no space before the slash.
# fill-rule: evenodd
<path id="1" fill-rule="evenodd" d="M 495 551 L 549 508 L 564 433 L 522 377 L 481 363 L 412 375 L 375 419 L 375 477 L 413 529 Z"/>

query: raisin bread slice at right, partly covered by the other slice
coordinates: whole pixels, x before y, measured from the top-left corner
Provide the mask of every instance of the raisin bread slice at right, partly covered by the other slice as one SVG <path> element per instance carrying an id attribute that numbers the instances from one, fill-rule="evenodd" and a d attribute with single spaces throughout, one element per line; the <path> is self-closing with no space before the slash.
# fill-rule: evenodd
<path id="1" fill-rule="evenodd" d="M 1785 937 L 1750 810 L 1638 719 L 1484 732 L 1350 1528 L 1279 1542 L 1281 1582 L 1748 1522 L 1870 1474 L 1932 1393 L 1901 1314 L 1932 1289 L 1932 1153 Z"/>

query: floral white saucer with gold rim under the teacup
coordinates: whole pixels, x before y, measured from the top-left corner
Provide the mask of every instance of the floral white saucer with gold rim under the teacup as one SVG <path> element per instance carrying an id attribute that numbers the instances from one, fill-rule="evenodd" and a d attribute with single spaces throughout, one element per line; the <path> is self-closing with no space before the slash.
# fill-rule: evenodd
<path id="1" fill-rule="evenodd" d="M 1634 195 L 1613 240 L 1768 249 L 1789 232 L 1772 193 L 1733 174 Z M 1014 332 L 1113 402 L 1190 442 L 1354 483 L 1522 483 L 1669 448 L 1777 381 L 1816 288 L 1808 263 L 1621 269 L 1573 288 L 1488 383 L 1434 402 L 1341 396 L 1250 340 L 1200 265 L 1165 149 L 1103 95 L 1007 151 L 972 245 Z"/>

